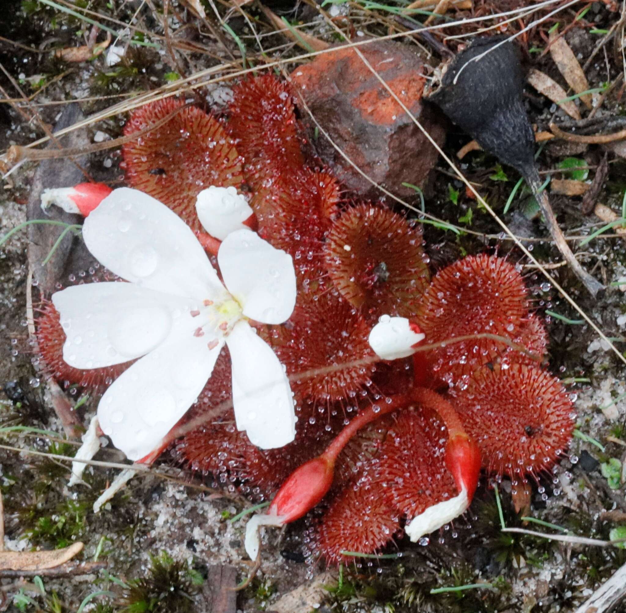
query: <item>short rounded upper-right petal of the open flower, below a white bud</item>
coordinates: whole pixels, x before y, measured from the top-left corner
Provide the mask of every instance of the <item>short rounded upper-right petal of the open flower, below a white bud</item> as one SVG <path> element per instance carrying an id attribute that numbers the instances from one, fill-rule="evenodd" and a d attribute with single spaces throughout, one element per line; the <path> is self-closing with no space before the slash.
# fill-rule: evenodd
<path id="1" fill-rule="evenodd" d="M 264 324 L 281 324 L 295 306 L 295 271 L 291 256 L 274 249 L 252 230 L 228 234 L 217 252 L 228 291 L 244 315 Z"/>

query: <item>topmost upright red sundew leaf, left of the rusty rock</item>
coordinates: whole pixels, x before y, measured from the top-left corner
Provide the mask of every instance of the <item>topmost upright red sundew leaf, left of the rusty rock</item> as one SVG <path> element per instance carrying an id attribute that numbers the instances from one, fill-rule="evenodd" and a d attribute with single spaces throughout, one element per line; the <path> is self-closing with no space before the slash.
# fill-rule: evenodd
<path id="1" fill-rule="evenodd" d="M 233 88 L 228 131 L 245 158 L 244 172 L 255 189 L 274 175 L 304 164 L 294 103 L 288 86 L 267 74 Z"/>

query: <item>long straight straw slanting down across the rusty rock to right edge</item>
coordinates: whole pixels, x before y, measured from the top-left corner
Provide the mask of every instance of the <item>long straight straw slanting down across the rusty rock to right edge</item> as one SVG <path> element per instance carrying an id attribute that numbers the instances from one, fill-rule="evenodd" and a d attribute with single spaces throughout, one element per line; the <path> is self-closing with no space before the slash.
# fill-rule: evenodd
<path id="1" fill-rule="evenodd" d="M 574 4 L 574 3 L 575 2 L 568 3 L 565 6 L 561 7 L 560 9 L 557 9 L 557 11 L 552 11 L 552 13 L 546 15 L 546 18 L 548 18 L 548 16 L 552 16 L 553 14 L 557 13 L 558 10 L 562 10 L 562 9 L 567 8 L 568 6 L 572 6 L 572 4 Z M 325 16 L 325 18 L 326 18 L 326 16 Z M 334 23 L 332 23 L 332 21 L 330 21 L 327 18 L 326 18 L 326 21 L 327 21 L 327 23 L 331 24 L 332 28 L 336 29 L 336 31 L 339 34 L 343 35 L 341 30 L 339 28 L 337 28 L 337 26 Z M 530 26 L 527 26 L 527 28 L 525 28 L 525 29 L 528 29 L 528 27 L 530 27 Z M 518 34 L 521 34 L 521 32 L 523 32 L 525 29 L 521 30 L 520 33 L 518 33 Z M 415 125 L 418 126 L 419 130 L 421 130 L 421 132 L 424 134 L 424 136 L 426 138 L 428 138 L 428 140 L 431 143 L 431 145 L 433 145 L 433 147 L 436 148 L 436 150 L 438 150 L 438 152 L 441 155 L 441 157 L 443 157 L 443 159 L 446 160 L 446 163 L 448 163 L 448 165 L 451 168 L 451 170 L 453 170 L 453 172 L 456 173 L 457 177 L 465 184 L 466 188 L 468 188 L 468 190 L 475 195 L 476 200 L 478 202 L 480 202 L 481 205 L 483 205 L 483 207 L 485 207 L 485 209 L 489 212 L 491 217 L 493 217 L 493 219 L 496 221 L 496 223 L 498 225 L 500 225 L 500 227 L 506 232 L 506 234 L 508 234 L 511 237 L 513 242 L 515 242 L 515 244 L 526 255 L 526 257 L 528 257 L 528 259 L 530 259 L 531 262 L 533 262 L 533 264 L 536 265 L 538 270 L 541 271 L 541 274 L 543 274 L 543 276 L 545 276 L 546 279 L 548 279 L 548 281 L 550 281 L 552 286 L 555 287 L 555 289 L 557 289 L 557 291 L 561 294 L 561 296 L 563 296 L 563 298 L 565 298 L 565 300 L 567 300 L 567 302 L 570 303 L 570 305 L 575 309 L 575 311 L 577 311 L 580 314 L 580 316 L 582 316 L 583 319 L 593 328 L 593 330 L 595 332 L 597 332 L 598 336 L 600 336 L 600 338 L 603 341 L 608 343 L 608 345 L 612 349 L 613 353 L 615 353 L 615 355 L 618 357 L 618 359 L 620 359 L 620 361 L 622 361 L 623 364 L 626 364 L 626 357 L 622 355 L 622 353 L 615 347 L 615 345 L 607 338 L 607 336 L 604 334 L 604 332 L 602 332 L 602 330 L 600 330 L 600 328 L 597 326 L 597 324 L 595 322 L 593 322 L 592 319 L 590 319 L 590 317 L 587 315 L 587 313 L 585 313 L 585 311 L 583 311 L 583 309 L 580 306 L 578 306 L 578 303 L 570 296 L 570 294 L 568 294 L 568 292 L 565 291 L 565 289 L 563 289 L 562 286 L 560 286 L 560 284 L 557 282 L 557 280 L 550 275 L 550 273 L 545 269 L 545 267 L 543 267 L 543 265 L 541 265 L 540 262 L 538 262 L 538 260 L 536 260 L 536 258 L 533 256 L 533 254 L 531 254 L 531 252 L 528 249 L 526 249 L 526 247 L 521 243 L 520 239 L 518 239 L 513 234 L 513 232 L 511 232 L 511 230 L 505 224 L 505 222 L 503 222 L 503 220 L 501 220 L 500 217 L 498 217 L 498 215 L 496 215 L 495 211 L 491 208 L 491 206 L 485 201 L 485 199 L 483 197 L 481 197 L 480 193 L 478 193 L 476 191 L 475 187 L 473 185 L 471 185 L 471 183 L 463 175 L 463 173 L 460 172 L 460 170 L 456 167 L 456 165 L 454 165 L 452 160 L 446 155 L 446 153 L 444 153 L 444 151 L 441 149 L 441 147 L 439 147 L 438 143 L 436 143 L 434 141 L 433 137 L 431 137 L 431 135 L 428 133 L 428 131 L 424 129 L 424 126 L 421 125 L 421 123 L 419 123 L 418 119 L 413 115 L 413 113 L 411 113 L 411 111 L 407 108 L 407 106 L 403 103 L 403 101 L 398 97 L 398 95 L 396 95 L 396 93 L 389 87 L 389 85 L 386 83 L 386 81 L 372 67 L 372 65 L 369 63 L 369 61 L 367 61 L 366 57 L 361 53 L 361 50 L 359 48 L 357 48 L 357 47 L 354 47 L 354 51 L 357 53 L 359 58 L 361 58 L 361 61 L 366 65 L 367 69 L 369 71 L 371 71 L 371 73 L 374 76 L 376 76 L 377 80 L 380 81 L 381 85 L 389 92 L 389 94 L 391 94 L 391 96 L 401 106 L 401 108 L 409 116 L 409 118 L 411 118 L 411 121 L 413 121 L 413 123 L 415 123 Z M 302 100 L 302 96 L 300 96 L 300 99 Z M 308 110 L 308 107 L 307 107 L 307 110 Z M 311 114 L 310 110 L 308 110 L 308 112 L 309 112 L 309 114 Z M 319 124 L 317 124 L 317 125 L 319 125 Z M 369 180 L 371 181 L 371 179 L 369 179 Z M 371 182 L 374 183 L 374 185 L 376 185 L 375 182 L 373 182 L 373 181 L 371 181 Z M 386 192 L 386 193 L 389 193 L 389 192 Z M 394 199 L 395 200 L 399 200 L 399 198 L 397 198 L 397 197 L 394 197 Z M 406 203 L 404 203 L 404 204 L 406 205 Z M 576 260 L 574 259 L 574 261 L 576 261 Z M 570 265 L 571 264 L 572 263 L 570 262 Z"/>

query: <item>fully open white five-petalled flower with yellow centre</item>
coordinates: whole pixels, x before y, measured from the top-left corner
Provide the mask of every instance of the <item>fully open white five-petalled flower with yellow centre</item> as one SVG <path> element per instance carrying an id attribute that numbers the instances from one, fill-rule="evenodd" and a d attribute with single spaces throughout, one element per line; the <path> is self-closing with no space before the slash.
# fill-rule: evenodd
<path id="1" fill-rule="evenodd" d="M 83 238 L 128 283 L 68 287 L 52 300 L 70 366 L 137 359 L 98 406 L 100 426 L 118 449 L 139 460 L 162 445 L 207 383 L 224 343 L 237 428 L 264 449 L 294 440 L 284 368 L 246 321 L 289 318 L 295 305 L 289 255 L 249 229 L 235 230 L 218 251 L 223 285 L 192 230 L 158 200 L 129 188 L 114 190 L 91 212 Z"/>

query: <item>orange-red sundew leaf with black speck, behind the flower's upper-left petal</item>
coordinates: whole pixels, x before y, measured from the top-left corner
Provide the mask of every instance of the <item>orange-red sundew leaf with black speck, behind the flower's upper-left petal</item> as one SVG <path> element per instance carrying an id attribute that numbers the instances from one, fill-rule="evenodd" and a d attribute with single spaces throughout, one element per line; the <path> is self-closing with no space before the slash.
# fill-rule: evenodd
<path id="1" fill-rule="evenodd" d="M 124 134 L 143 130 L 184 105 L 166 98 L 133 111 Z M 126 181 L 167 205 L 198 232 L 198 193 L 216 187 L 240 187 L 241 158 L 222 123 L 195 106 L 184 108 L 164 125 L 125 143 Z"/>

